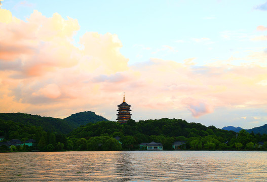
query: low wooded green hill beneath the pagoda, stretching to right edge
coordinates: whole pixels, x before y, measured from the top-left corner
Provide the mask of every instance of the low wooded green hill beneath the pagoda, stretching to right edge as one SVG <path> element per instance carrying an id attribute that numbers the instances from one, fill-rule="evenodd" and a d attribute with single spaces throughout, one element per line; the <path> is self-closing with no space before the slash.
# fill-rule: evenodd
<path id="1" fill-rule="evenodd" d="M 73 141 L 84 140 L 82 147 L 78 145 L 75 147 L 92 150 L 90 148 L 91 140 L 102 135 L 110 138 L 120 136 L 124 150 L 136 150 L 139 147 L 138 144 L 152 141 L 162 143 L 164 150 L 172 150 L 172 144 L 175 141 L 185 141 L 186 149 L 189 150 L 267 149 L 267 134 L 248 133 L 246 130 L 236 133 L 214 126 L 206 127 L 200 123 L 187 123 L 185 120 L 168 118 L 140 120 L 139 122 L 129 120 L 125 124 L 104 121 L 95 124 L 89 123 L 74 129 L 68 134 L 68 137 Z M 259 142 L 265 143 L 261 146 Z"/>

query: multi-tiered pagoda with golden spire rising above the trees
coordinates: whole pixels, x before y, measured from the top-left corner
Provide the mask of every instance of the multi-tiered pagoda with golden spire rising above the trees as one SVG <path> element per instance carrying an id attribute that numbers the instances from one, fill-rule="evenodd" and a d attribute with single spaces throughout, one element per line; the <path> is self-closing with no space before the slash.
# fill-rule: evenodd
<path id="1" fill-rule="evenodd" d="M 118 105 L 118 107 L 117 120 L 120 123 L 126 123 L 131 118 L 130 111 L 132 110 L 130 109 L 131 106 L 125 102 L 125 95 L 123 96 L 123 103 Z"/>

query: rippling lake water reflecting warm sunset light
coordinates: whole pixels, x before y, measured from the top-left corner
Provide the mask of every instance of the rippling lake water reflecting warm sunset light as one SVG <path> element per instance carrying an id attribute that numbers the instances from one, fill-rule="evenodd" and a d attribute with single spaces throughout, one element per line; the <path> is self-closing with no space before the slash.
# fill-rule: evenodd
<path id="1" fill-rule="evenodd" d="M 267 181 L 267 152 L 0 153 L 0 181 Z"/>

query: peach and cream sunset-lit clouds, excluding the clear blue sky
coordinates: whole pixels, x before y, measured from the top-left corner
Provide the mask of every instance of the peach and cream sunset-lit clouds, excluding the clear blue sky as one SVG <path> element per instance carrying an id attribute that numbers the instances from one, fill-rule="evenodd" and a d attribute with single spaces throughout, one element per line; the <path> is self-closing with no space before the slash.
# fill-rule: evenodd
<path id="1" fill-rule="evenodd" d="M 34 10 L 22 20 L 1 9 L 0 111 L 64 118 L 89 110 L 115 121 L 125 92 L 137 121 L 169 117 L 218 127 L 263 125 L 267 122 L 266 26 L 252 27 L 256 33 L 246 38 L 264 41 L 265 47 L 235 50 L 226 59 L 215 55 L 213 61 L 200 64 L 192 50 L 192 55 L 177 61 L 168 56 L 182 51 L 178 45 L 152 48 L 140 43 L 132 48 L 149 52 L 150 58 L 129 64 L 119 34 L 88 30 L 75 43 L 79 19 L 62 18 L 59 13 L 46 17 Z M 216 46 L 216 40 L 206 36 L 176 43 L 186 41 Z"/>

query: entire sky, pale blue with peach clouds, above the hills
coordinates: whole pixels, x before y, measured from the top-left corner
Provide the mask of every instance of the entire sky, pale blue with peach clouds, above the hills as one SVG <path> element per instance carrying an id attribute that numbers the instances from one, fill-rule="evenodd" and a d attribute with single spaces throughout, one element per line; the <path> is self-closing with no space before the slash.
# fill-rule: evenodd
<path id="1" fill-rule="evenodd" d="M 267 123 L 267 1 L 2 1 L 0 112 Z"/>

